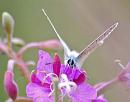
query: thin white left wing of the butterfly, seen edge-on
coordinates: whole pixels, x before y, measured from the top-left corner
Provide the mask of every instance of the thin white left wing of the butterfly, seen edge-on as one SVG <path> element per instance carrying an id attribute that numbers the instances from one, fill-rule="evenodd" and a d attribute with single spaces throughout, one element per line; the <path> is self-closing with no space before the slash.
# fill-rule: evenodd
<path id="1" fill-rule="evenodd" d="M 55 26 L 53 25 L 53 23 L 52 23 L 52 21 L 50 20 L 49 16 L 46 14 L 45 10 L 42 9 L 42 11 L 43 11 L 44 15 L 47 17 L 47 20 L 48 20 L 49 23 L 51 24 L 51 26 L 52 26 L 54 32 L 56 33 L 58 39 L 60 40 L 60 42 L 61 42 L 61 44 L 62 44 L 62 46 L 63 46 L 63 48 L 64 48 L 64 60 L 68 59 L 68 56 L 69 56 L 69 53 L 70 53 L 69 47 L 67 46 L 67 44 L 62 40 L 62 38 L 61 38 L 60 35 L 58 34 L 58 32 L 57 32 Z"/>

